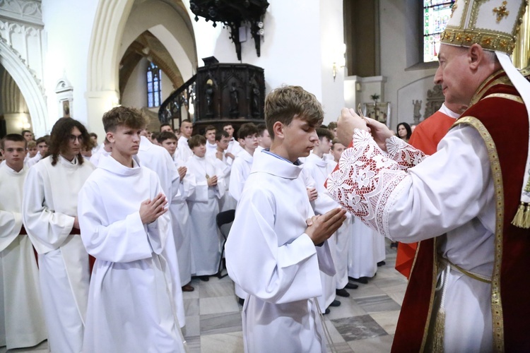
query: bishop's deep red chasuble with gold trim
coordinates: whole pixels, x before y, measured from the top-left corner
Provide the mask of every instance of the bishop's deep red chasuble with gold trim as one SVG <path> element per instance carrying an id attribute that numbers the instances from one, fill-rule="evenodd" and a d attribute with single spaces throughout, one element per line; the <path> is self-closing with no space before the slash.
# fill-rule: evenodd
<path id="1" fill-rule="evenodd" d="M 511 225 L 522 189 L 529 120 L 504 71 L 477 90 L 456 124 L 476 128 L 490 157 L 495 183 L 495 263 L 491 306 L 497 352 L 530 352 L 530 230 Z M 430 322 L 437 273 L 436 239 L 421 241 L 408 282 L 392 352 L 420 352 Z"/>

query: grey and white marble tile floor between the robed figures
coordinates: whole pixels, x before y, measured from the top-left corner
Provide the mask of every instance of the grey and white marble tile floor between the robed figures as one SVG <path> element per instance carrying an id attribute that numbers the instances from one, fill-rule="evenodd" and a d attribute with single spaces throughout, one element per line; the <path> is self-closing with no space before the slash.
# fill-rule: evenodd
<path id="1" fill-rule="evenodd" d="M 336 352 L 390 352 L 406 288 L 406 278 L 394 269 L 396 251 L 387 243 L 386 265 L 366 285 L 352 289 L 341 306 L 330 308 L 324 321 Z M 243 352 L 241 309 L 230 277 L 192 280 L 194 292 L 184 292 L 186 326 L 191 353 Z M 331 347 L 330 352 L 333 352 Z M 0 353 L 6 352 L 5 347 Z M 46 342 L 33 349 L 9 352 L 47 352 Z"/>

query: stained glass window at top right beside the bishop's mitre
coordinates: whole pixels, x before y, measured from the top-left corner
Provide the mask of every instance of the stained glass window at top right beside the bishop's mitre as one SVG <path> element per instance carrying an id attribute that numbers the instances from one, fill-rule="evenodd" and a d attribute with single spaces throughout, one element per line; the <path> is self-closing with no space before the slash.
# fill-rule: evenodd
<path id="1" fill-rule="evenodd" d="M 440 35 L 451 17 L 454 0 L 423 1 L 423 61 L 438 60 Z"/>

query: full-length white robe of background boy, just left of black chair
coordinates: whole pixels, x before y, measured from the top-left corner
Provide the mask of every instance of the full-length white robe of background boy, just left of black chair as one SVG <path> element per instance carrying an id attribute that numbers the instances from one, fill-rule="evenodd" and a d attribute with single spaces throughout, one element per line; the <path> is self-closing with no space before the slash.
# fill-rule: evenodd
<path id="1" fill-rule="evenodd" d="M 225 193 L 223 171 L 208 157 L 194 155 L 187 162 L 189 172 L 196 180 L 195 192 L 188 198 L 189 216 L 192 220 L 192 274 L 214 275 L 220 261 L 220 237 L 216 224 L 219 213 L 218 198 Z M 206 175 L 217 176 L 216 186 L 208 187 Z"/>

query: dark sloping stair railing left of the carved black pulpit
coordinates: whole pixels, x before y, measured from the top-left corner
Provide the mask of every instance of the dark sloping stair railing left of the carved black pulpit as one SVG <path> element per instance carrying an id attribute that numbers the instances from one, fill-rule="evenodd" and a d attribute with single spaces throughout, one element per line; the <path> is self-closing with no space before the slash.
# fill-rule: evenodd
<path id="1" fill-rule="evenodd" d="M 189 106 L 192 104 L 194 107 L 195 104 L 196 77 L 196 75 L 192 76 L 160 104 L 160 109 L 158 109 L 160 124 L 169 123 L 173 129 L 180 126 L 182 122 L 182 107 L 184 107 L 184 119 L 190 119 Z M 193 111 L 194 109 L 192 109 Z M 175 126 L 175 123 L 178 123 L 177 126 Z"/>

